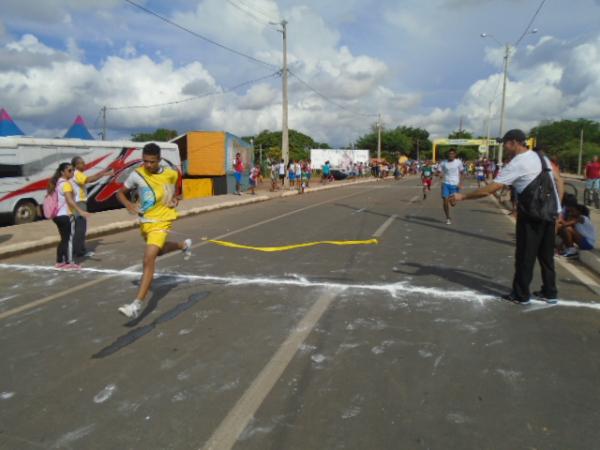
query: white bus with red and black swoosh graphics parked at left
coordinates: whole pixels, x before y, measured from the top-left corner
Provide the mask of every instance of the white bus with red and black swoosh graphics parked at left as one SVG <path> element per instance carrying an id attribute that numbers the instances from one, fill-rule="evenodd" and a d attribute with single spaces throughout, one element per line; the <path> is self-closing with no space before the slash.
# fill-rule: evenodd
<path id="1" fill-rule="evenodd" d="M 114 195 L 127 175 L 139 167 L 146 142 L 87 141 L 81 139 L 38 139 L 0 137 L 0 214 L 13 223 L 33 222 L 40 217 L 40 205 L 48 181 L 62 162 L 81 156 L 86 173 L 93 175 L 110 167 L 114 175 L 87 186 L 88 209 L 92 212 L 120 207 Z M 179 148 L 157 142 L 164 164 L 181 172 Z"/>

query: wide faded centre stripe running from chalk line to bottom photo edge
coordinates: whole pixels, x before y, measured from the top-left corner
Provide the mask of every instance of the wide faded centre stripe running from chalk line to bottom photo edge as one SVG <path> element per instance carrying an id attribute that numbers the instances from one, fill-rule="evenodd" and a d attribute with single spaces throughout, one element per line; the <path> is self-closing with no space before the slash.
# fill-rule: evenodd
<path id="1" fill-rule="evenodd" d="M 283 375 L 302 343 L 323 317 L 323 314 L 325 314 L 339 292 L 339 290 L 325 290 L 319 296 L 296 328 L 292 330 L 277 352 L 271 357 L 267 365 L 260 371 L 250 387 L 244 392 L 244 395 L 240 397 L 225 416 L 210 439 L 202 447 L 202 450 L 230 450 L 233 448 L 260 405 L 275 386 L 275 383 Z"/>

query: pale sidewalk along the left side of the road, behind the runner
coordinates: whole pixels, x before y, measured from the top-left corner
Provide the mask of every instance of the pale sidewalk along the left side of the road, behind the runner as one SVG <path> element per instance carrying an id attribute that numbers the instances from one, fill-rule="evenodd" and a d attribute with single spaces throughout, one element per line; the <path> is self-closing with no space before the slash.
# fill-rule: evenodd
<path id="1" fill-rule="evenodd" d="M 360 184 L 376 181 L 374 178 L 364 178 L 352 181 L 335 181 L 326 186 L 316 186 L 306 189 L 305 193 L 318 192 L 326 189 L 336 189 L 352 184 Z M 265 180 L 263 186 L 268 180 Z M 233 208 L 236 206 L 249 205 L 251 203 L 264 202 L 275 198 L 299 195 L 297 191 L 269 192 L 257 189 L 257 195 L 242 196 L 219 195 L 180 202 L 177 210 L 180 217 L 197 215 L 216 211 L 219 209 Z M 96 237 L 105 234 L 118 233 L 123 230 L 136 228 L 137 218 L 126 209 L 116 209 L 95 213 L 88 219 L 88 237 Z M 56 225 L 50 220 L 40 220 L 24 225 L 13 225 L 0 228 L 0 259 L 16 254 L 34 252 L 42 248 L 54 247 L 60 241 Z"/>

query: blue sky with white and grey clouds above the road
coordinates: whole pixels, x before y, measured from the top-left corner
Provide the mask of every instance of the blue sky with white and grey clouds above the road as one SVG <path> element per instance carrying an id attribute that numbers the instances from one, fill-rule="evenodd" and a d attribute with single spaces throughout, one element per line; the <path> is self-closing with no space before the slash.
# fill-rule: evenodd
<path id="1" fill-rule="evenodd" d="M 333 145 L 385 126 L 498 134 L 503 48 L 540 0 L 3 0 L 0 107 L 27 134 L 82 114 L 109 138 L 168 127 L 238 135 L 281 127 L 281 33 L 289 22 L 290 127 Z M 600 120 L 600 0 L 547 0 L 513 52 L 510 127 Z M 264 64 L 263 64 L 264 63 Z M 249 81 L 253 83 L 247 83 Z M 315 93 L 316 89 L 326 98 Z M 242 86 L 240 86 L 242 85 Z M 236 86 L 239 86 L 236 88 Z M 232 89 L 234 88 L 234 89 Z M 205 94 L 211 94 L 206 96 Z M 217 94 L 217 95 L 215 95 Z M 200 97 L 200 98 L 195 98 Z M 185 100 L 182 103 L 173 103 Z M 164 105 L 171 102 L 170 105 Z M 132 106 L 163 106 L 129 108 Z M 113 109 L 111 109 L 113 108 Z"/>

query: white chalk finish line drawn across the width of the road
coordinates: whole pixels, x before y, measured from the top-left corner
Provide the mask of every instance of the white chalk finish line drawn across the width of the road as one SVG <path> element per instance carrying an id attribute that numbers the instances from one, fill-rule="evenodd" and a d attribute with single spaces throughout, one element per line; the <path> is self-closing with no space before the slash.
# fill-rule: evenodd
<path id="1" fill-rule="evenodd" d="M 55 269 L 52 266 L 41 266 L 41 265 L 27 265 L 27 264 L 0 264 L 0 269 L 5 270 L 16 270 L 30 273 L 40 272 L 63 272 L 60 269 Z M 79 272 L 108 275 L 111 278 L 122 276 L 138 278 L 142 275 L 142 272 L 134 270 L 114 270 L 114 269 L 94 269 L 94 268 L 83 268 Z M 482 294 L 477 291 L 470 289 L 462 290 L 450 290 L 443 288 L 435 288 L 428 286 L 415 286 L 407 281 L 398 281 L 396 283 L 384 283 L 384 284 L 368 284 L 368 283 L 334 283 L 327 281 L 311 281 L 308 278 L 301 275 L 293 275 L 289 278 L 268 278 L 268 277 L 247 277 L 247 276 L 219 276 L 219 275 L 194 275 L 194 274 L 181 274 L 181 273 L 170 273 L 160 272 L 155 275 L 156 278 L 167 277 L 174 279 L 181 279 L 185 281 L 199 281 L 208 283 L 220 283 L 230 286 L 294 286 L 294 287 L 305 287 L 305 288 L 330 288 L 336 290 L 356 290 L 356 291 L 371 291 L 387 293 L 394 298 L 405 297 L 407 295 L 423 295 L 429 298 L 436 299 L 451 299 L 451 300 L 462 300 L 471 303 L 478 303 L 482 305 L 484 302 L 489 301 L 501 301 L 497 296 Z M 105 277 L 104 277 L 105 278 Z M 89 284 L 86 283 L 86 284 Z M 423 298 L 419 298 L 419 301 Z M 533 305 L 546 305 L 545 302 L 540 300 L 532 300 Z M 600 303 L 593 302 L 582 302 L 579 300 L 563 300 L 561 299 L 555 307 L 571 307 L 571 308 L 588 308 L 600 311 Z M 525 309 L 524 309 L 525 310 Z M 0 315 L 2 318 L 2 315 Z"/>

